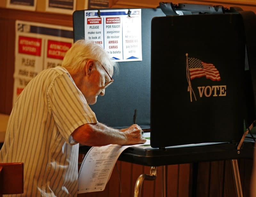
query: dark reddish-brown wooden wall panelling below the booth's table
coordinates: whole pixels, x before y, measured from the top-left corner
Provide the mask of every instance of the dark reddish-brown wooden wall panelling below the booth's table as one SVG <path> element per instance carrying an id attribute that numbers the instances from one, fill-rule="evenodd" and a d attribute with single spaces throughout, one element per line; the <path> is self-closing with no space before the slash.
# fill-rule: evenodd
<path id="1" fill-rule="evenodd" d="M 150 167 L 144 167 L 137 164 L 132 164 L 132 170 L 129 171 L 126 162 L 117 161 L 117 165 L 113 169 L 110 180 L 103 192 L 83 193 L 78 197 L 132 197 L 134 194 L 134 186 L 132 179 L 137 179 L 140 174 L 150 174 Z M 192 168 L 198 165 L 197 170 L 197 188 L 196 193 L 192 193 L 191 171 Z M 122 169 L 122 166 L 126 166 Z M 130 165 L 128 165 L 130 166 Z M 239 160 L 240 178 L 242 183 L 244 197 L 249 197 L 250 177 L 252 159 Z M 125 181 L 121 181 L 122 192 L 120 192 L 119 175 L 118 171 L 123 172 L 123 176 L 126 175 Z M 234 176 L 231 166 L 231 161 L 216 161 L 216 162 L 199 162 L 195 164 L 176 164 L 166 167 L 166 197 L 234 197 L 236 196 L 236 187 L 234 182 Z M 161 197 L 162 193 L 162 172 L 164 166 L 157 167 L 157 177 L 154 181 L 144 180 L 141 196 L 140 197 Z M 131 174 L 132 177 L 130 176 Z M 135 175 L 136 174 L 136 175 Z M 132 184 L 128 187 L 124 187 L 128 183 Z M 132 188 L 132 191 L 129 189 Z"/>

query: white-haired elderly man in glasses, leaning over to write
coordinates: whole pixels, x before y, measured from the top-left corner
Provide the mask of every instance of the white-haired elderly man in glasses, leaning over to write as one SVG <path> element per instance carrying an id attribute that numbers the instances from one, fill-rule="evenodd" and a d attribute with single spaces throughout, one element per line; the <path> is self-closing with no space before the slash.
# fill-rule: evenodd
<path id="1" fill-rule="evenodd" d="M 99 45 L 78 40 L 62 67 L 43 70 L 15 102 L 0 162 L 24 162 L 24 193 L 15 196 L 77 196 L 79 143 L 143 144 L 137 124 L 117 130 L 97 121 L 89 107 L 113 83 L 117 64 Z"/>

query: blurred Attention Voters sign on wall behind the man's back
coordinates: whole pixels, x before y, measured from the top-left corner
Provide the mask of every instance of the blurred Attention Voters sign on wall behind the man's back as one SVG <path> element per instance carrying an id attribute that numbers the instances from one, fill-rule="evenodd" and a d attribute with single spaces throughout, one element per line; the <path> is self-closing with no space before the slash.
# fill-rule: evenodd
<path id="1" fill-rule="evenodd" d="M 71 27 L 16 20 L 13 104 L 39 72 L 61 66 L 73 44 Z"/>

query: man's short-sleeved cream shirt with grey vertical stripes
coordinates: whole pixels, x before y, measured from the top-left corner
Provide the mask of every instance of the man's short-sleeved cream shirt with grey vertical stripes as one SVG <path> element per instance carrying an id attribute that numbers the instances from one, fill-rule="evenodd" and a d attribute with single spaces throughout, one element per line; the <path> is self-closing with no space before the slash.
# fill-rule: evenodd
<path id="1" fill-rule="evenodd" d="M 0 162 L 24 163 L 24 193 L 13 196 L 77 196 L 79 144 L 71 133 L 86 123 L 96 116 L 65 68 L 33 78 L 13 106 L 0 151 Z"/>

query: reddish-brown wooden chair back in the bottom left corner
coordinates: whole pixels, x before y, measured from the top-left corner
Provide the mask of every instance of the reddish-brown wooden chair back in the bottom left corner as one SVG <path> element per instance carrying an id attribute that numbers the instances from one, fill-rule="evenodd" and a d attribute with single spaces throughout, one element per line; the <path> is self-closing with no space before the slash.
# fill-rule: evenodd
<path id="1" fill-rule="evenodd" d="M 23 193 L 23 163 L 0 163 L 0 197 Z"/>

